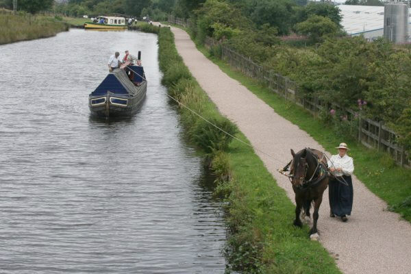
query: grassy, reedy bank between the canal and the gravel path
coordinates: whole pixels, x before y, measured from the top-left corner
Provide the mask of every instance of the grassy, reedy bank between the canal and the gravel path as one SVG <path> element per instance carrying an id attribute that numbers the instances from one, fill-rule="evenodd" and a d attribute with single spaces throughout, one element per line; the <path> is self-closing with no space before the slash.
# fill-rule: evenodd
<path id="1" fill-rule="evenodd" d="M 159 30 L 159 47 L 162 82 L 169 87 L 169 94 L 213 123 L 236 132 L 190 75 L 168 28 Z M 244 273 L 340 273 L 319 242 L 310 241 L 308 227 L 292 226 L 294 206 L 253 149 L 236 140 L 230 142 L 182 105 L 177 107 L 188 140 L 209 158 L 219 182 L 216 190 L 225 194 L 228 202 L 231 234 L 225 253 L 230 268 Z M 248 142 L 240 132 L 236 137 Z"/>

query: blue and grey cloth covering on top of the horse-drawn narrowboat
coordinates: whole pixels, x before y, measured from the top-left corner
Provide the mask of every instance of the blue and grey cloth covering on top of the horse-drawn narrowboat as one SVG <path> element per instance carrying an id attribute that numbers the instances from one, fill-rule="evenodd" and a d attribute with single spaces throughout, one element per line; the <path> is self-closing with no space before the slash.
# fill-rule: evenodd
<path id="1" fill-rule="evenodd" d="M 142 75 L 144 77 L 144 69 L 142 66 L 128 66 L 130 69 Z M 142 82 L 143 79 L 140 77 L 141 81 L 134 79 L 135 82 Z M 119 95 L 134 94 L 136 88 L 134 84 L 129 80 L 127 73 L 124 69 L 116 69 L 113 72 L 109 73 L 103 82 L 97 86 L 97 88 L 91 92 L 92 96 L 106 95 L 107 92 L 116 93 Z"/>

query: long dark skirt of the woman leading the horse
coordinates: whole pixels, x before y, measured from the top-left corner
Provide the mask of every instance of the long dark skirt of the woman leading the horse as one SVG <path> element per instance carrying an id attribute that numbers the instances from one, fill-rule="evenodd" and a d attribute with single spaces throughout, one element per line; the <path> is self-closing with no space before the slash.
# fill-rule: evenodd
<path id="1" fill-rule="evenodd" d="M 344 183 L 338 182 L 335 178 L 329 180 L 329 208 L 331 209 L 331 212 L 336 216 L 351 215 L 354 195 L 351 176 L 343 175 L 343 177 L 337 178 L 342 182 L 344 182 L 344 178 L 348 186 L 346 186 Z"/>

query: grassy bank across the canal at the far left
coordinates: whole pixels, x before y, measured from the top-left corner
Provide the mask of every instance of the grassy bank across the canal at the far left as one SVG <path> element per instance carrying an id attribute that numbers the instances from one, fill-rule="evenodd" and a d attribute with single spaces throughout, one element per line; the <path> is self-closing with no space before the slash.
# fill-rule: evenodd
<path id="1" fill-rule="evenodd" d="M 0 14 L 0 45 L 55 36 L 67 30 L 67 24 L 49 16 Z"/>

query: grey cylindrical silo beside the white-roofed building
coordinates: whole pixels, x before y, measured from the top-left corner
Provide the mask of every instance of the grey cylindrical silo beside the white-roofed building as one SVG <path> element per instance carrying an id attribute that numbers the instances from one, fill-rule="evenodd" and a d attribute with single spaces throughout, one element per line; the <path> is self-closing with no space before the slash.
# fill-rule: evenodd
<path id="1" fill-rule="evenodd" d="M 408 42 L 408 4 L 390 2 L 384 6 L 384 38 L 401 44 Z"/>

